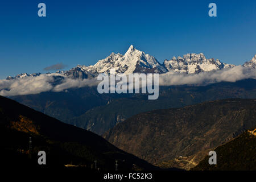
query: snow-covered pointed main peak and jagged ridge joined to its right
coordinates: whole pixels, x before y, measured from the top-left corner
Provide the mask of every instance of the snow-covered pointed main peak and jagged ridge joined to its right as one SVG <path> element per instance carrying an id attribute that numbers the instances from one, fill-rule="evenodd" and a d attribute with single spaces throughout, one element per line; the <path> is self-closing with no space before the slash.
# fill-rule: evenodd
<path id="1" fill-rule="evenodd" d="M 111 53 L 105 59 L 99 60 L 96 64 L 83 67 L 84 71 L 91 74 L 109 73 L 115 69 L 117 73 L 166 73 L 174 71 L 179 73 L 200 73 L 209 72 L 223 68 L 233 68 L 233 64 L 225 64 L 220 60 L 207 59 L 204 53 L 187 53 L 186 55 L 174 56 L 171 60 L 164 60 L 160 64 L 154 56 L 139 51 L 133 45 L 127 49 L 125 55 Z"/>

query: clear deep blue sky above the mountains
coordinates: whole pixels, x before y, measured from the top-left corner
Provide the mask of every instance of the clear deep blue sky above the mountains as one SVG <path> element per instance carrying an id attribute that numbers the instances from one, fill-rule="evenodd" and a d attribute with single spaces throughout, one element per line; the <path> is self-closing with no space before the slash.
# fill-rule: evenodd
<path id="1" fill-rule="evenodd" d="M 47 17 L 39 18 L 44 2 Z M 208 5 L 217 5 L 217 17 Z M 160 63 L 203 52 L 242 64 L 256 54 L 256 1 L 1 1 L 0 78 L 95 64 L 130 44 Z"/>

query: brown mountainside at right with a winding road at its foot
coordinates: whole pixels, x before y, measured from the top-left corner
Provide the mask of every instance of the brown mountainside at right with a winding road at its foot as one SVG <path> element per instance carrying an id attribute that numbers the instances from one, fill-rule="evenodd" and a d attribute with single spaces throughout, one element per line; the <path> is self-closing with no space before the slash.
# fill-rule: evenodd
<path id="1" fill-rule="evenodd" d="M 104 134 L 118 148 L 153 164 L 196 156 L 256 125 L 256 100 L 228 99 L 134 115 Z"/>

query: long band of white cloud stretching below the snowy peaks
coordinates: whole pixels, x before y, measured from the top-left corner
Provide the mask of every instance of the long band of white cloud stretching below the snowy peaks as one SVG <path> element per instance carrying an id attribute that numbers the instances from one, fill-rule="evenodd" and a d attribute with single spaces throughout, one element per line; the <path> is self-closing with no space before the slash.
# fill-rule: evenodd
<path id="1" fill-rule="evenodd" d="M 59 84 L 55 84 L 56 76 L 60 75 L 48 74 L 36 77 L 16 78 L 14 80 L 0 80 L 0 95 L 17 96 L 48 91 L 63 92 L 69 88 L 81 88 L 98 84 L 97 78 L 80 80 L 68 77 L 57 78 L 59 79 L 57 80 Z M 168 72 L 159 75 L 159 85 L 207 85 L 221 81 L 235 82 L 246 78 L 256 79 L 256 69 L 246 69 L 242 66 L 237 66 L 230 69 L 202 72 L 193 75 Z"/>

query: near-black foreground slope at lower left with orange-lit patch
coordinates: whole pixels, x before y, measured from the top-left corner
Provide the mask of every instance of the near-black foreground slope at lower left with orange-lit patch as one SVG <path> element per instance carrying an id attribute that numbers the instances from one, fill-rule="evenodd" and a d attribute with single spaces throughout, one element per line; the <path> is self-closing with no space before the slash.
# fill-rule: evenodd
<path id="1" fill-rule="evenodd" d="M 101 169 L 156 169 L 151 164 L 114 147 L 100 136 L 48 117 L 0 96 L 1 154 L 6 166 L 39 166 L 37 152 L 47 153 L 48 166 L 80 164 L 90 168 L 97 160 Z M 32 150 L 28 155 L 28 140 Z"/>

